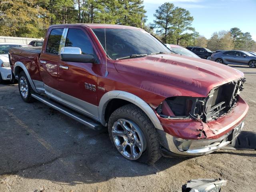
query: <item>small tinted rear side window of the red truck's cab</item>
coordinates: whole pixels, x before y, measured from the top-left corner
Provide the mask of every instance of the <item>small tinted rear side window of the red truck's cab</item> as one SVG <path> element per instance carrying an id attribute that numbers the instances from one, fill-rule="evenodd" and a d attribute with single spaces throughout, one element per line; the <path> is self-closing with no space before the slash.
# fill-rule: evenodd
<path id="1" fill-rule="evenodd" d="M 46 45 L 46 53 L 56 54 L 59 53 L 60 40 L 62 37 L 62 32 L 64 28 L 53 29 L 48 38 Z"/>

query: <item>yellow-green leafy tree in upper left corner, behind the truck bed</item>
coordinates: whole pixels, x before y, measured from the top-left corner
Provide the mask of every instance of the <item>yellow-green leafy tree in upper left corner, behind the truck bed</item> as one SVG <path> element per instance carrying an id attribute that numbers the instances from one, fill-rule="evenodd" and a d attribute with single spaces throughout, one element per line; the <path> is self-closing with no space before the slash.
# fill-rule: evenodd
<path id="1" fill-rule="evenodd" d="M 0 1 L 0 35 L 42 37 L 50 24 L 49 12 L 36 0 Z"/>

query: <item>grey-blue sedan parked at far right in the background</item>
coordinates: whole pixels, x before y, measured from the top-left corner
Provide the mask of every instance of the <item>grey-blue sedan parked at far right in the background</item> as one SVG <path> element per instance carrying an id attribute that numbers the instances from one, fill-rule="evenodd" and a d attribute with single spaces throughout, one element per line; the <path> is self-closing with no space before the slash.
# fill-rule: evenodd
<path id="1" fill-rule="evenodd" d="M 256 67 L 256 56 L 246 51 L 222 51 L 212 54 L 212 61 L 223 64 L 248 65 Z"/>

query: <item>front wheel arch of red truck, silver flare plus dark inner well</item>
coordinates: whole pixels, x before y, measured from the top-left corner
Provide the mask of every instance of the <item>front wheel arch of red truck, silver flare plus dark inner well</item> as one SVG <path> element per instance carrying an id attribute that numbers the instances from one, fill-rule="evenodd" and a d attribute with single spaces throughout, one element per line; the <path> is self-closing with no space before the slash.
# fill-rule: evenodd
<path id="1" fill-rule="evenodd" d="M 109 107 L 111 107 L 110 104 L 113 104 L 115 101 L 118 101 L 117 106 L 114 106 L 114 109 L 109 109 Z M 151 122 L 154 124 L 155 128 L 163 130 L 162 125 L 158 120 L 154 110 L 144 100 L 134 94 L 118 90 L 107 92 L 100 99 L 100 103 L 98 106 L 98 115 L 101 123 L 103 125 L 106 125 L 110 116 L 109 113 L 111 111 L 113 112 L 115 108 L 117 109 L 124 104 L 129 103 L 138 106 L 142 111 L 144 111 L 144 113 L 148 116 L 148 118 L 150 118 Z"/>

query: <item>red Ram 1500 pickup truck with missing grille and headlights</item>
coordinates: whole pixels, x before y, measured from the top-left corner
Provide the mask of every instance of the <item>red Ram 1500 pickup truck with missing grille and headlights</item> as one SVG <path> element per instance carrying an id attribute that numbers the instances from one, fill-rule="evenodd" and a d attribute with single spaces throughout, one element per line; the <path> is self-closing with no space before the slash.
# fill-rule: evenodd
<path id="1" fill-rule="evenodd" d="M 129 160 L 209 154 L 238 136 L 248 111 L 242 72 L 174 54 L 130 26 L 53 25 L 42 50 L 12 48 L 9 59 L 25 102 L 108 127 Z"/>

